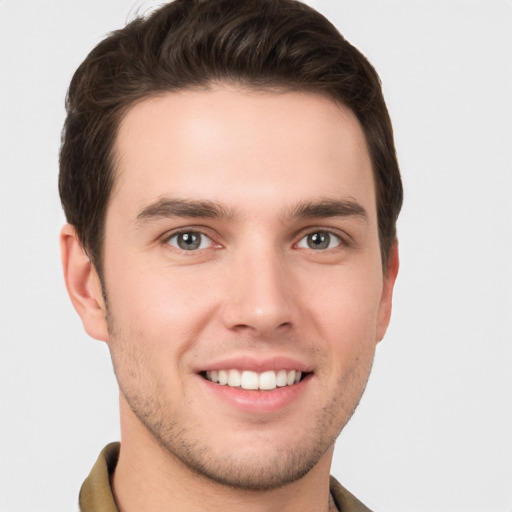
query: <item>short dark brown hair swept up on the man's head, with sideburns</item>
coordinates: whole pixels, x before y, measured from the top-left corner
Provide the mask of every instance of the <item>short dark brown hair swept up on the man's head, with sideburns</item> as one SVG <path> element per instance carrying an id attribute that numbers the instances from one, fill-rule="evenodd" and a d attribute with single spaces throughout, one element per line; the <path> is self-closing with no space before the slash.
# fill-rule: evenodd
<path id="1" fill-rule="evenodd" d="M 101 277 L 113 147 L 137 101 L 214 82 L 298 90 L 341 102 L 366 136 L 387 266 L 402 205 L 391 121 L 368 60 L 321 14 L 296 0 L 175 0 L 98 44 L 69 87 L 59 192 Z"/>

